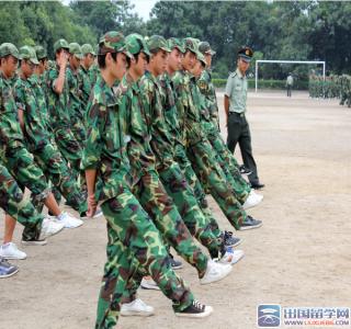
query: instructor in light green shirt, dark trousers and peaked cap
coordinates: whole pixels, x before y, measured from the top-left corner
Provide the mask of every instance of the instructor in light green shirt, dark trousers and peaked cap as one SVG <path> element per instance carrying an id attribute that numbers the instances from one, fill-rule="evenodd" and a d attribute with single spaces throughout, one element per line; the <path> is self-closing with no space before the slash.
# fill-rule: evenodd
<path id="1" fill-rule="evenodd" d="M 248 172 L 248 179 L 252 189 L 262 189 L 257 166 L 252 155 L 250 127 L 246 120 L 246 100 L 248 92 L 248 81 L 246 72 L 249 69 L 253 52 L 250 47 L 242 47 L 238 52 L 237 69 L 230 73 L 227 80 L 224 109 L 226 112 L 228 139 L 227 146 L 234 152 L 239 143 L 244 166 Z"/>

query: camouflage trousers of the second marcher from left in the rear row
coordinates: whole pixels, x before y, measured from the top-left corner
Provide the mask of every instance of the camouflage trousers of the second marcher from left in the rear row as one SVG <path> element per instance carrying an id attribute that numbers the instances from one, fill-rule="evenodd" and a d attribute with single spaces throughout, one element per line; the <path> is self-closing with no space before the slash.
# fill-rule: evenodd
<path id="1" fill-rule="evenodd" d="M 66 160 L 52 144 L 33 152 L 35 161 L 69 205 L 82 214 L 88 211 L 86 195 L 72 178 Z M 56 195 L 55 195 L 56 196 Z"/>

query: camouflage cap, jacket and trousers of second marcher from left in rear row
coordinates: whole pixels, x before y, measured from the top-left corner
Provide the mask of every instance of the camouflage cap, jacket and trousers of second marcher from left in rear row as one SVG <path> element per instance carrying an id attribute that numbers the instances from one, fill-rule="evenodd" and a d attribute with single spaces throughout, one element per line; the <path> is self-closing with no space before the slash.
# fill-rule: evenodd
<path id="1" fill-rule="evenodd" d="M 24 46 L 20 52 L 22 59 L 34 60 L 35 64 L 34 50 Z M 83 194 L 71 178 L 66 161 L 50 143 L 50 135 L 46 131 L 45 118 L 42 115 L 46 111 L 39 110 L 41 104 L 29 79 L 18 79 L 14 84 L 14 100 L 18 109 L 24 112 L 24 136 L 34 159 L 72 208 L 80 214 L 87 212 L 88 206 Z"/>

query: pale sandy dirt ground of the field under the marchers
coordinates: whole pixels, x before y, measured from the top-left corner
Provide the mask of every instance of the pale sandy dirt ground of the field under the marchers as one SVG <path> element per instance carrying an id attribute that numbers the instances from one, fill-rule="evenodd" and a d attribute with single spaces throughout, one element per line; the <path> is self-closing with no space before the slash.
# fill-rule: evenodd
<path id="1" fill-rule="evenodd" d="M 220 92 L 218 103 L 223 114 Z M 291 99 L 283 92 L 250 92 L 247 116 L 265 184 L 263 202 L 249 214 L 263 226 L 238 232 L 246 257 L 219 283 L 201 286 L 188 264 L 179 271 L 214 314 L 180 319 L 161 293 L 141 291 L 156 315 L 121 318 L 118 329 L 250 329 L 257 327 L 259 304 L 351 306 L 351 110 L 303 92 Z M 222 132 L 225 136 L 224 124 Z M 230 230 L 210 202 L 222 227 Z M 2 234 L 3 214 L 0 219 Z M 19 246 L 21 231 L 19 226 Z M 0 280 L 0 328 L 93 328 L 105 242 L 104 220 L 92 219 L 46 247 L 23 247 L 29 258 L 14 261 L 20 272 Z"/>

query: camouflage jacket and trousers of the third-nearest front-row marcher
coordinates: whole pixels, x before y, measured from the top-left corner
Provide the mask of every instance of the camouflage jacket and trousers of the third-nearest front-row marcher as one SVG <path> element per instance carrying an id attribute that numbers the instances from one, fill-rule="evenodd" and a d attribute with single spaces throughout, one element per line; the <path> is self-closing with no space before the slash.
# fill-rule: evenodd
<path id="1" fill-rule="evenodd" d="M 150 145 L 156 156 L 156 167 L 161 182 L 168 195 L 173 198 L 192 236 L 207 247 L 213 257 L 218 257 L 219 242 L 201 212 L 179 164 L 174 161 L 174 140 L 168 131 L 169 126 L 177 124 L 174 103 L 172 107 L 163 107 L 161 88 L 150 72 L 146 72 L 138 84 L 145 116 L 150 126 Z M 166 124 L 167 121 L 168 124 Z"/>

